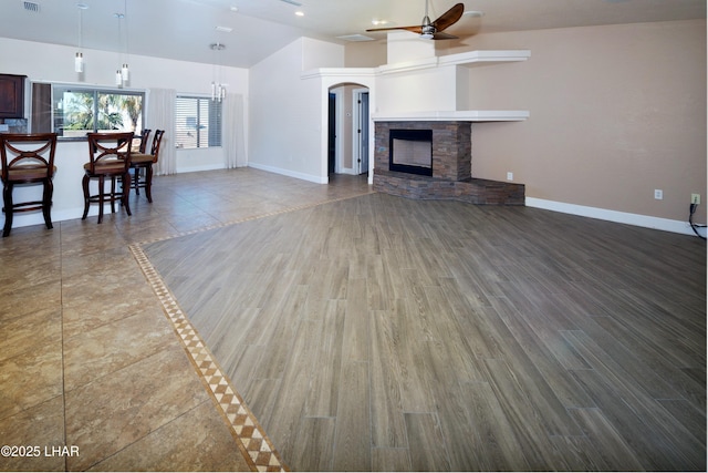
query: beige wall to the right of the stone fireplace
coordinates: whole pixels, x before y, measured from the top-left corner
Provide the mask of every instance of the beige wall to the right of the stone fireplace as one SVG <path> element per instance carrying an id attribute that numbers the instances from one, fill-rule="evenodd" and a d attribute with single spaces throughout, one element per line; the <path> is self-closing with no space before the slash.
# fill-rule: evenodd
<path id="1" fill-rule="evenodd" d="M 529 197 L 680 222 L 700 193 L 705 223 L 705 21 L 481 34 L 449 52 L 490 49 L 531 59 L 470 70 L 470 109 L 531 117 L 472 126 L 475 176 L 512 172 Z"/>

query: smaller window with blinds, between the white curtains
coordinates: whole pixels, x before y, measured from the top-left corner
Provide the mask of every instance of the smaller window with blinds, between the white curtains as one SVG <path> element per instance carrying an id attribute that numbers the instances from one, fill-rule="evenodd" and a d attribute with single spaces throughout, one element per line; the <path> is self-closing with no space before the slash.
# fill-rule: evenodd
<path id="1" fill-rule="evenodd" d="M 221 146 L 221 102 L 177 95 L 175 143 L 178 148 Z"/>

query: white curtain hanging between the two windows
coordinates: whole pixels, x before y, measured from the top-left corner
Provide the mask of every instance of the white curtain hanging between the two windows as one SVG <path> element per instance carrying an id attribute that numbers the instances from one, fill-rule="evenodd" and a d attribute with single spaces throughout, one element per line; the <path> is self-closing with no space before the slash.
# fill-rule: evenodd
<path id="1" fill-rule="evenodd" d="M 175 99 L 177 91 L 171 89 L 150 89 L 147 97 L 146 128 L 164 130 L 159 145 L 159 160 L 155 166 L 155 174 L 167 175 L 177 173 L 175 153 Z"/>

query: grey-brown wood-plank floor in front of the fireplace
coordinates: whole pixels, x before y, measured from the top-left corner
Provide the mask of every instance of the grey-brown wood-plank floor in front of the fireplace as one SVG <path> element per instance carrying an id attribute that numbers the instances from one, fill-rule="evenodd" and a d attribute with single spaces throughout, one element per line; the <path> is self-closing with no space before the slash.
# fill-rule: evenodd
<path id="1" fill-rule="evenodd" d="M 706 470 L 697 237 L 369 194 L 144 249 L 292 470 Z"/>

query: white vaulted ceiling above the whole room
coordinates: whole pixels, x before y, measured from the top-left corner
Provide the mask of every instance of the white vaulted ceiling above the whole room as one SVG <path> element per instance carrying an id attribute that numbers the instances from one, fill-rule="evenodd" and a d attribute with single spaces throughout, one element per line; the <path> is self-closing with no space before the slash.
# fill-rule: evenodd
<path id="1" fill-rule="evenodd" d="M 431 19 L 459 2 L 428 1 Z M 706 18 L 706 0 L 462 3 L 467 14 L 447 30 L 461 41 L 485 32 Z M 303 35 L 343 44 L 385 39 L 366 32 L 373 21 L 420 24 L 425 9 L 426 0 L 2 0 L 0 37 L 206 63 L 219 42 L 220 63 L 249 68 Z"/>

